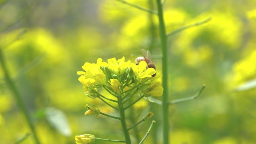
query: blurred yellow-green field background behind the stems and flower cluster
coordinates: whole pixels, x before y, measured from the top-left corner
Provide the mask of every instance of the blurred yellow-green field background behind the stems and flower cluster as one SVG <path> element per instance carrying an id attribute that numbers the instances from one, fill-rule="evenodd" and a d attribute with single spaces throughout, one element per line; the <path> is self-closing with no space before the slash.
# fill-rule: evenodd
<path id="1" fill-rule="evenodd" d="M 155 0 L 128 1 L 156 9 Z M 208 17 L 210 22 L 168 38 L 170 99 L 192 96 L 206 85 L 199 98 L 171 105 L 170 143 L 255 144 L 256 1 L 164 5 L 168 32 Z M 83 94 L 76 71 L 84 62 L 122 56 L 134 61 L 132 54 L 147 49 L 161 73 L 157 17 L 115 0 L 0 0 L 0 48 L 42 144 L 74 144 L 81 134 L 124 139 L 118 121 L 84 116 L 85 104 L 115 115 Z M 161 106 L 142 99 L 127 113 L 128 125 L 148 111 L 156 125 L 144 143 L 160 144 Z M 133 143 L 149 125 L 150 120 L 139 125 L 138 135 L 130 132 Z M 29 131 L 1 70 L 0 143 L 13 144 Z M 33 137 L 23 143 L 33 144 Z"/>

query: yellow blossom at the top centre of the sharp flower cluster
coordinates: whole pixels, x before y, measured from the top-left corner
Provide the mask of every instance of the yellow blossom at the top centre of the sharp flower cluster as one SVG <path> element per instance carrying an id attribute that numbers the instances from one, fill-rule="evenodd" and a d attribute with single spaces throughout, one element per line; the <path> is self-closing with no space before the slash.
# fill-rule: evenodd
<path id="1" fill-rule="evenodd" d="M 109 64 L 109 70 L 120 76 L 125 73 L 125 71 L 131 67 L 131 61 L 125 62 L 125 57 L 123 56 L 121 59 L 116 61 L 116 58 L 110 58 L 107 60 Z"/>

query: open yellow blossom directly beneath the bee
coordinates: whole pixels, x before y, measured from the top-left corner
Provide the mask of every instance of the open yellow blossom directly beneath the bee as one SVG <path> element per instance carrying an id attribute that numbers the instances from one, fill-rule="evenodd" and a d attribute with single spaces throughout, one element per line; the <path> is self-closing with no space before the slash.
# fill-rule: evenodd
<path id="1" fill-rule="evenodd" d="M 147 68 L 147 63 L 145 61 L 141 61 L 138 65 L 131 64 L 131 66 L 138 79 L 152 77 L 152 75 L 156 73 L 154 68 Z"/>

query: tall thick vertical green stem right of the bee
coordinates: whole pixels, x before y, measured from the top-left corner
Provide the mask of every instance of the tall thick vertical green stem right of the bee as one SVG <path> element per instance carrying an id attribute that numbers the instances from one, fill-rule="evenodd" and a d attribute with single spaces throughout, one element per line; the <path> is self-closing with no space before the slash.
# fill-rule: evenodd
<path id="1" fill-rule="evenodd" d="M 164 144 L 169 144 L 169 123 L 168 123 L 168 62 L 167 62 L 167 37 L 165 33 L 165 24 L 163 17 L 163 10 L 161 0 L 156 0 L 158 7 L 158 18 L 159 18 L 159 34 L 161 38 L 162 47 L 162 73 L 163 73 L 163 96 L 162 96 L 162 111 L 163 111 L 163 136 Z"/>

